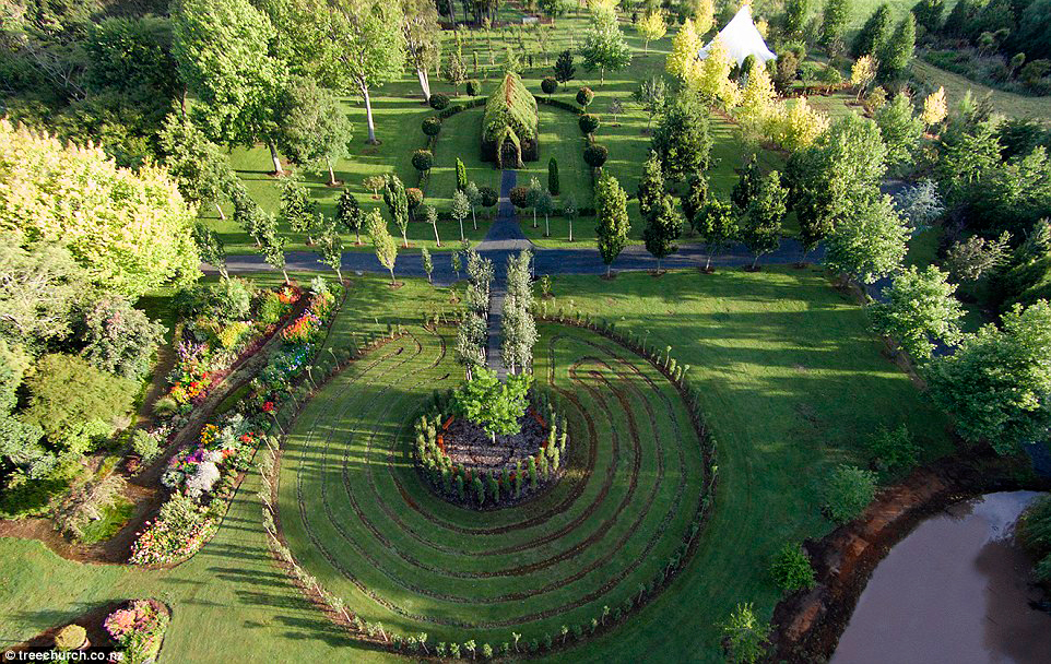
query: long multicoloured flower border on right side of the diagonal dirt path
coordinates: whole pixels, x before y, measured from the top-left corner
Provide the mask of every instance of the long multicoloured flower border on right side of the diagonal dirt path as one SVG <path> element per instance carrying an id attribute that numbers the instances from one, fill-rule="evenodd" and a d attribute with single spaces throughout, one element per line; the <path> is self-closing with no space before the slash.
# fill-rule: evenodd
<path id="1" fill-rule="evenodd" d="M 295 380 L 317 355 L 335 312 L 342 286 L 316 278 L 303 316 L 282 333 L 281 348 L 269 358 L 249 393 L 231 411 L 204 425 L 198 440 L 168 462 L 161 478 L 172 491 L 161 513 L 138 533 L 134 565 L 172 565 L 186 559 L 212 536 L 234 496 L 238 476 L 275 424 L 275 411 L 292 394 Z M 291 328 L 291 327 L 290 327 Z"/>

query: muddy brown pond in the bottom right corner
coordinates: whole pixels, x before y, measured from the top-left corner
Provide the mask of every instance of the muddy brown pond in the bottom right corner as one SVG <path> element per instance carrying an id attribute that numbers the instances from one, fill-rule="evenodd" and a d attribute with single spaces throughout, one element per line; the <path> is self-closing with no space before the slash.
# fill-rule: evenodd
<path id="1" fill-rule="evenodd" d="M 921 523 L 876 567 L 831 664 L 1051 663 L 1013 526 L 1032 491 L 989 494 Z"/>

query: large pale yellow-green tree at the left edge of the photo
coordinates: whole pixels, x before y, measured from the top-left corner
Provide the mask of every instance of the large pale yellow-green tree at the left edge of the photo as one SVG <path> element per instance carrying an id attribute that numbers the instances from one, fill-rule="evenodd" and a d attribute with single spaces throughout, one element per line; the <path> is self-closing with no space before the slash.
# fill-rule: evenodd
<path id="1" fill-rule="evenodd" d="M 198 278 L 194 216 L 165 168 L 120 168 L 101 147 L 0 119 L 0 230 L 25 249 L 64 245 L 94 286 L 133 300 Z"/>

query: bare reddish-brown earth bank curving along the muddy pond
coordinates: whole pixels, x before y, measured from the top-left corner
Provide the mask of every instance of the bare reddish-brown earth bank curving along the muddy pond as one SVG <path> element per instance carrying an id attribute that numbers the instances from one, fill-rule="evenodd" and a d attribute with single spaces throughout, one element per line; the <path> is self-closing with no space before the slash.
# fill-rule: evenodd
<path id="1" fill-rule="evenodd" d="M 881 490 L 861 518 L 805 542 L 817 585 L 775 607 L 771 661 L 830 657 L 869 578 L 894 545 L 954 502 L 1019 489 L 1051 490 L 1051 478 L 1037 477 L 988 447 L 966 450 L 917 469 Z"/>

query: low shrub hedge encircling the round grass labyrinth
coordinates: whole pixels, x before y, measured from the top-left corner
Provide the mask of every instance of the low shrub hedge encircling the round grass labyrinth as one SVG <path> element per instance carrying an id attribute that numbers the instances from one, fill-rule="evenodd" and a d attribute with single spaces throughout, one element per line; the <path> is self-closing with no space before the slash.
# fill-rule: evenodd
<path id="1" fill-rule="evenodd" d="M 657 601 L 657 598 L 663 593 L 663 591 L 666 588 L 669 588 L 672 584 L 672 582 L 675 580 L 677 572 L 686 567 L 686 565 L 689 562 L 689 560 L 693 558 L 694 554 L 697 550 L 698 543 L 700 541 L 699 535 L 704 531 L 705 525 L 708 523 L 708 520 L 711 518 L 711 513 L 713 509 L 713 497 L 715 497 L 715 493 L 718 484 L 718 476 L 717 476 L 717 473 L 712 472 L 713 469 L 717 469 L 717 466 L 713 465 L 715 459 L 716 459 L 715 440 L 708 430 L 707 424 L 705 423 L 704 415 L 700 413 L 698 408 L 699 391 L 689 386 L 689 383 L 685 380 L 682 371 L 675 375 L 674 369 L 669 369 L 669 361 L 671 360 L 670 357 L 664 358 L 664 364 L 662 364 L 660 353 L 656 352 L 654 348 L 648 348 L 645 345 L 638 343 L 636 340 L 621 334 L 619 331 L 616 331 L 614 329 L 613 324 L 606 323 L 605 321 L 594 320 L 591 318 L 584 318 L 584 319 L 569 318 L 565 316 L 536 316 L 535 319 L 538 322 L 555 323 L 555 324 L 562 324 L 566 327 L 582 328 L 582 329 L 590 330 L 595 334 L 603 336 L 623 346 L 627 351 L 649 361 L 662 376 L 664 376 L 664 378 L 670 383 L 672 383 L 675 387 L 676 391 L 680 394 L 680 398 L 683 400 L 683 406 L 686 408 L 686 412 L 689 415 L 690 424 L 694 427 L 695 434 L 697 435 L 698 441 L 700 443 L 701 455 L 705 464 L 704 465 L 705 488 L 700 493 L 700 498 L 698 500 L 697 511 L 696 511 L 697 517 L 692 530 L 687 534 L 687 540 L 684 543 L 684 548 L 683 548 L 684 553 L 682 557 L 675 559 L 675 564 L 673 567 L 670 566 L 665 568 L 664 573 L 660 577 L 657 583 L 654 583 L 652 590 L 647 591 L 648 596 L 646 597 L 646 601 L 642 602 L 640 596 L 640 601 L 633 603 L 631 609 L 625 613 L 624 616 L 621 618 L 621 620 L 610 621 L 609 624 L 603 622 L 599 625 L 592 632 L 587 633 L 579 638 L 575 638 L 571 643 L 566 643 L 564 638 L 560 643 L 556 641 L 555 645 L 552 649 L 547 650 L 546 652 L 538 653 L 538 655 L 540 656 L 548 656 L 552 653 L 568 651 L 578 645 L 588 643 L 592 640 L 595 640 L 605 636 L 606 633 L 617 629 L 622 624 L 630 619 L 630 616 L 634 613 L 639 612 L 642 607 Z M 333 317 L 333 320 L 334 320 L 334 317 Z M 435 328 L 432 327 L 428 329 L 434 330 Z M 374 341 L 371 344 L 368 344 L 365 347 L 359 348 L 356 353 L 352 354 L 352 356 L 345 363 L 342 363 L 341 365 L 336 366 L 334 370 L 329 376 L 327 376 L 323 381 L 315 383 L 315 389 L 310 391 L 308 398 L 305 399 L 303 403 L 296 404 L 293 416 L 290 418 L 287 424 L 291 426 L 298 418 L 299 414 L 303 411 L 304 405 L 310 399 L 312 399 L 318 391 L 323 389 L 334 377 L 339 376 L 351 364 L 362 359 L 367 354 L 375 352 L 376 349 L 387 345 L 388 343 L 391 343 L 398 339 L 401 339 L 402 336 L 404 336 L 404 332 L 402 331 L 399 331 L 398 333 L 392 332 L 390 335 L 382 337 L 380 340 Z M 283 442 L 284 438 L 285 438 L 285 435 L 281 435 L 280 441 Z M 282 455 L 283 455 L 283 449 L 279 443 L 279 446 L 273 452 L 274 463 L 270 470 L 269 475 L 265 476 L 265 479 L 268 481 L 265 484 L 269 484 L 269 487 L 270 487 L 269 503 L 273 506 L 270 508 L 270 512 L 272 513 L 272 517 L 273 517 L 274 531 L 275 531 L 271 534 L 273 542 L 270 542 L 270 546 L 268 548 L 270 550 L 270 556 L 273 560 L 274 566 L 277 569 L 282 570 L 288 577 L 288 581 L 293 585 L 299 589 L 299 591 L 303 593 L 304 598 L 306 601 L 315 605 L 334 625 L 346 629 L 349 639 L 352 639 L 356 643 L 359 643 L 364 647 L 367 647 L 374 650 L 387 651 L 387 652 L 397 653 L 397 654 L 412 654 L 412 653 L 405 653 L 401 651 L 399 648 L 397 648 L 393 641 L 390 639 L 390 637 L 386 632 L 380 631 L 380 633 L 383 636 L 383 638 L 380 639 L 376 636 L 376 633 L 373 633 L 371 631 L 369 633 L 366 633 L 365 631 L 359 630 L 357 625 L 355 624 L 357 617 L 349 613 L 345 609 L 345 607 L 342 606 L 342 603 L 340 603 L 339 607 L 334 606 L 331 603 L 331 595 L 328 593 L 326 589 L 323 589 L 323 586 L 320 586 L 319 584 L 317 584 L 316 581 L 312 585 L 310 585 L 304 582 L 303 577 L 300 577 L 297 573 L 297 571 L 302 572 L 302 568 L 299 567 L 298 561 L 295 560 L 295 558 L 292 556 L 291 552 L 288 552 L 288 542 L 285 538 L 284 530 L 281 524 L 281 511 L 276 509 L 277 494 L 280 490 L 280 478 L 281 478 L 280 471 L 281 471 Z M 263 512 L 264 513 L 268 512 L 267 505 L 263 505 Z M 288 555 L 287 560 L 282 559 L 282 557 L 275 550 L 274 544 L 285 548 L 285 553 Z M 512 656 L 516 659 L 531 659 L 532 655 L 530 653 L 516 651 L 516 653 Z"/>

